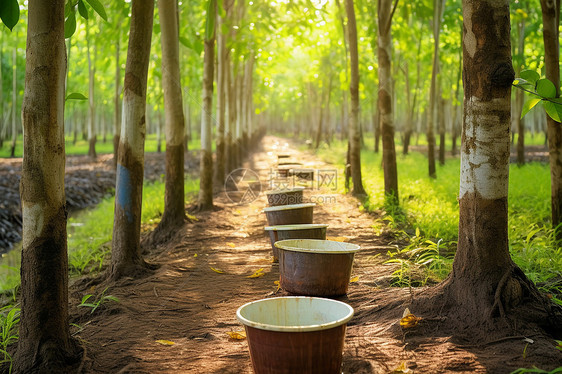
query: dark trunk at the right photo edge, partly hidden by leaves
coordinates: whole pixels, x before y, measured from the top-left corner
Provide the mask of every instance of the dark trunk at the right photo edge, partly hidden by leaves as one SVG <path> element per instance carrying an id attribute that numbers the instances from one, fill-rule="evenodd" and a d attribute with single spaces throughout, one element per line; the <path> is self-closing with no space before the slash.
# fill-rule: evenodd
<path id="1" fill-rule="evenodd" d="M 544 62 L 546 78 L 556 87 L 556 97 L 560 95 L 560 0 L 541 0 L 543 19 Z M 562 126 L 550 116 L 546 119 L 548 127 L 548 152 L 550 154 L 550 191 L 552 208 L 552 227 L 556 228 L 556 238 L 562 239 Z"/>

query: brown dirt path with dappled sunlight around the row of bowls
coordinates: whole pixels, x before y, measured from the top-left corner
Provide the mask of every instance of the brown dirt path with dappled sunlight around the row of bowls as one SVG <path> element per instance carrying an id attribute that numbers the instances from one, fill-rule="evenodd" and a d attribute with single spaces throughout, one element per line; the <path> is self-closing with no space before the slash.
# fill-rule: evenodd
<path id="1" fill-rule="evenodd" d="M 265 150 L 248 165 L 260 170 L 262 180 L 274 165 L 273 146 L 278 141 L 266 137 Z M 311 155 L 291 152 L 305 166 L 329 169 Z M 310 198 L 318 191 L 307 193 Z M 412 371 L 395 373 L 506 373 L 520 366 L 541 366 L 540 352 L 537 356 L 532 346 L 521 361 L 522 339 L 515 345 L 492 343 L 477 349 L 455 345 L 438 332 L 414 328 L 404 333 L 398 325 L 404 306 L 397 300 L 404 299 L 409 290 L 388 288 L 392 267 L 383 265 L 392 238 L 375 235 L 375 217 L 361 213 L 356 200 L 343 195 L 335 198 L 317 206 L 315 222 L 328 223 L 329 236 L 346 237 L 362 248 L 353 270 L 359 280 L 340 298 L 355 308 L 345 340 L 344 373 L 389 373 L 401 364 Z M 76 305 L 85 293 L 102 290 L 71 288 L 71 320 L 82 327 L 73 331 L 87 349 L 85 372 L 251 372 L 247 342 L 227 335 L 243 330 L 236 309 L 286 293 L 276 293 L 274 281 L 279 273 L 271 263 L 271 247 L 263 230 L 263 194 L 248 205 L 233 205 L 226 196 L 219 196 L 217 206 L 217 211 L 198 214 L 198 221 L 187 225 L 173 242 L 151 251 L 147 260 L 159 265 L 154 275 L 125 280 L 106 292 L 118 297 L 119 303 L 106 303 L 90 314 Z M 248 278 L 261 268 L 264 276 Z"/>

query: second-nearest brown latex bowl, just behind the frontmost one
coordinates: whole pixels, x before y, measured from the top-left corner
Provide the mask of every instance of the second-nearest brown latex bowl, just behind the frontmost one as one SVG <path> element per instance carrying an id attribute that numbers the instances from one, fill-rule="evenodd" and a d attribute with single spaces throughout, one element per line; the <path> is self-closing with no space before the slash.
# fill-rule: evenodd
<path id="1" fill-rule="evenodd" d="M 356 244 L 316 239 L 275 243 L 279 250 L 279 285 L 287 292 L 309 296 L 347 293 Z"/>

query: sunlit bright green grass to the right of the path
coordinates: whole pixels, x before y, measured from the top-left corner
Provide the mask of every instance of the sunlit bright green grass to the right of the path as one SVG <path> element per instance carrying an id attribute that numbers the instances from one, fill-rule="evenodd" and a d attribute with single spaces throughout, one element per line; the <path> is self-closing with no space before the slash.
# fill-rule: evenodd
<path id="1" fill-rule="evenodd" d="M 396 208 L 385 204 L 382 155 L 370 149 L 361 153 L 363 183 L 369 194 L 364 207 L 381 211 L 394 233 L 407 241 L 405 248 L 389 253 L 390 263 L 397 264 L 395 284 L 417 285 L 443 279 L 450 271 L 458 236 L 460 160 L 449 159 L 444 166 L 438 165 L 437 178 L 431 179 L 424 155 L 399 153 L 400 207 Z M 344 143 L 336 141 L 318 154 L 343 170 Z M 343 174 L 339 175 L 339 184 L 343 185 Z M 562 277 L 562 250 L 557 248 L 550 227 L 549 166 L 511 165 L 509 178 L 511 255 L 531 280 L 544 284 L 546 291 L 560 294 L 562 282 L 554 279 Z"/>

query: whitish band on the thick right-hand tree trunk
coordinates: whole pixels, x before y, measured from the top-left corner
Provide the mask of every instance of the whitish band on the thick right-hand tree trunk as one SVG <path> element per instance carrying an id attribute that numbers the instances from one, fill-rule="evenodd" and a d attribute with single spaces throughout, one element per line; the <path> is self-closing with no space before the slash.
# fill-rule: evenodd
<path id="1" fill-rule="evenodd" d="M 465 105 L 465 137 L 461 152 L 459 196 L 462 198 L 466 193 L 477 192 L 485 199 L 507 197 L 509 97 L 489 102 L 472 97 L 465 100 Z M 500 118 L 500 115 L 504 115 L 504 119 Z"/>

